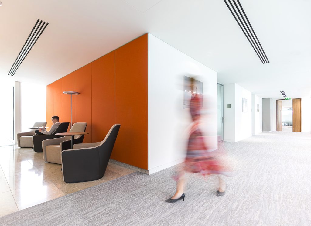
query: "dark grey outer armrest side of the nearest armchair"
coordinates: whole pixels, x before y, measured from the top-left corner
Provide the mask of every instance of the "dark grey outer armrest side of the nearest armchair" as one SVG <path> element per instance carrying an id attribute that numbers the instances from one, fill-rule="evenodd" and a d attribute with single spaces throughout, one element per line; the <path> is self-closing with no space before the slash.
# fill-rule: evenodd
<path id="1" fill-rule="evenodd" d="M 95 180 L 102 177 L 98 148 L 64 150 L 61 153 L 61 160 L 63 179 L 66 183 Z"/>

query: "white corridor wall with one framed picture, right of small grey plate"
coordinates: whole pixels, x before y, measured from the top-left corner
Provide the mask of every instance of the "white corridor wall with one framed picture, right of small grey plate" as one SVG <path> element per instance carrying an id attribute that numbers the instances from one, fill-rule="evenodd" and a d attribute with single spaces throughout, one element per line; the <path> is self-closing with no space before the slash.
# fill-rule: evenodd
<path id="1" fill-rule="evenodd" d="M 242 98 L 247 99 L 247 112 L 242 112 Z M 235 142 L 252 136 L 252 93 L 235 84 Z"/>

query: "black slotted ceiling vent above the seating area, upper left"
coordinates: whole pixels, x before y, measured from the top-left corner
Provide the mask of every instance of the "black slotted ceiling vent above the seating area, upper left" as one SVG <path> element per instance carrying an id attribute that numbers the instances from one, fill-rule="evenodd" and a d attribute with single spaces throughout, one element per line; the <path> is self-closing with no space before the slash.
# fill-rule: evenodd
<path id="1" fill-rule="evenodd" d="M 40 21 L 39 19 L 37 20 L 37 22 L 35 23 L 35 26 L 32 28 L 28 38 L 26 39 L 26 42 L 25 42 L 23 48 L 21 48 L 20 53 L 16 57 L 13 65 L 12 65 L 12 67 L 11 67 L 11 69 L 7 75 L 13 76 L 15 74 L 16 70 L 21 65 L 21 63 L 24 61 L 27 54 L 29 53 L 31 48 L 34 46 L 36 41 L 39 39 L 40 35 L 42 34 L 42 32 L 44 31 L 44 29 L 46 28 L 46 26 L 48 24 L 49 23 L 47 23 L 45 21 Z"/>

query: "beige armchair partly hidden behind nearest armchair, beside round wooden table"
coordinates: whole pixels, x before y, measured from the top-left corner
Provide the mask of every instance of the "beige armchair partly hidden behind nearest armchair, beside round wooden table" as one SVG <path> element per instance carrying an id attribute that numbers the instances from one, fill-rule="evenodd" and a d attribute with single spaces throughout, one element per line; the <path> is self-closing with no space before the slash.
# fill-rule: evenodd
<path id="1" fill-rule="evenodd" d="M 69 132 L 85 132 L 86 122 L 76 122 Z M 84 135 L 74 136 L 73 143 L 82 143 Z M 42 141 L 43 159 L 45 162 L 62 164 L 61 152 L 71 149 L 71 136 L 63 136 Z"/>

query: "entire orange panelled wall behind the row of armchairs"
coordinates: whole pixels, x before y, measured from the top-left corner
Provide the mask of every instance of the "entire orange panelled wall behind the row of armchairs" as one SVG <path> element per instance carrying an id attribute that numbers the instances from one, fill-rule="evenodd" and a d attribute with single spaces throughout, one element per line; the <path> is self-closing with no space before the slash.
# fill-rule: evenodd
<path id="1" fill-rule="evenodd" d="M 148 169 L 147 34 L 47 86 L 47 122 L 87 122 L 83 143 L 102 141 L 115 123 L 121 128 L 111 158 Z"/>

